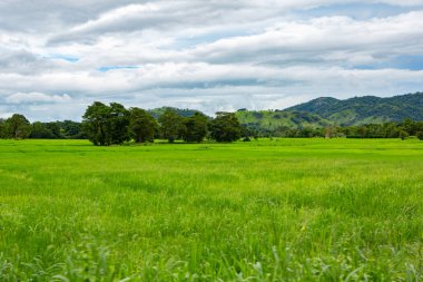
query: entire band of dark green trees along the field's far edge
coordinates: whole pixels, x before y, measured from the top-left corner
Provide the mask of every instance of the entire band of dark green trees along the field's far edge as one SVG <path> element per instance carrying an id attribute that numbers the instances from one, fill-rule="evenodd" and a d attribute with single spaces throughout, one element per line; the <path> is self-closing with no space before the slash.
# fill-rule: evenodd
<path id="1" fill-rule="evenodd" d="M 125 108 L 118 103 L 109 105 L 95 101 L 88 106 L 82 123 L 72 120 L 30 123 L 23 115 L 0 118 L 0 138 L 89 139 L 98 146 L 118 145 L 134 140 L 153 143 L 167 139 L 200 143 L 205 139 L 234 142 L 259 137 L 346 137 L 346 138 L 401 138 L 416 136 L 423 140 L 423 121 L 405 119 L 402 123 L 368 124 L 360 126 L 327 126 L 325 128 L 279 127 L 273 130 L 252 124 L 240 125 L 235 113 L 216 113 L 210 118 L 200 111 L 183 116 L 174 108 L 164 108 L 154 116 L 148 110 Z"/>

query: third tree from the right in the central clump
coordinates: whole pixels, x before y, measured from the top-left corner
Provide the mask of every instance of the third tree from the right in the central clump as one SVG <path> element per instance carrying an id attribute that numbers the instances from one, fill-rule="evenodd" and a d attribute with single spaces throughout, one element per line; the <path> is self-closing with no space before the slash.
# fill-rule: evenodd
<path id="1" fill-rule="evenodd" d="M 174 143 L 180 138 L 186 130 L 184 125 L 184 117 L 178 115 L 174 109 L 168 108 L 159 117 L 161 136 L 168 139 L 169 143 Z"/>

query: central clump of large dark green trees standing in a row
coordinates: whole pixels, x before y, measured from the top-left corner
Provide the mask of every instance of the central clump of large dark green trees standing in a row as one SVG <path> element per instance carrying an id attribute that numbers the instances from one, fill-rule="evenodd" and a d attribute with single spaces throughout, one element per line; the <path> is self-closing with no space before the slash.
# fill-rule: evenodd
<path id="1" fill-rule="evenodd" d="M 216 142 L 234 142 L 240 138 L 240 124 L 234 113 L 216 113 L 209 118 L 201 113 L 183 117 L 167 108 L 158 119 L 145 109 L 125 108 L 118 103 L 109 105 L 95 101 L 82 116 L 82 129 L 88 139 L 98 146 L 118 145 L 125 142 L 154 142 L 156 138 L 174 143 L 200 143 L 205 138 Z"/>

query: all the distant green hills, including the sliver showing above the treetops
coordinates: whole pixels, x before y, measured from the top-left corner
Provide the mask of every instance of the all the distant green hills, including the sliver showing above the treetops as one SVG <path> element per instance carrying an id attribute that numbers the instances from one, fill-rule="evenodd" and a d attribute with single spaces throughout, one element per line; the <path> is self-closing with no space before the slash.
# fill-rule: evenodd
<path id="1" fill-rule="evenodd" d="M 167 108 L 169 107 L 155 108 L 150 109 L 149 113 L 158 118 Z M 171 109 L 184 117 L 198 113 L 195 109 Z M 243 108 L 235 114 L 242 124 L 262 130 L 275 130 L 281 127 L 357 126 L 402 121 L 406 118 L 422 121 L 423 93 L 388 98 L 363 96 L 344 100 L 321 97 L 286 109 L 248 110 Z"/>

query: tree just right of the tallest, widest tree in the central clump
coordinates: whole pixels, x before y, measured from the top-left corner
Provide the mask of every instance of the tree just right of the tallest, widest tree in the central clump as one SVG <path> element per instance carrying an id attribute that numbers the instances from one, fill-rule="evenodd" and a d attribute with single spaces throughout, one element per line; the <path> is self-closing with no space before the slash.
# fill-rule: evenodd
<path id="1" fill-rule="evenodd" d="M 156 119 L 147 110 L 129 109 L 129 134 L 136 143 L 154 142 L 157 129 Z"/>

